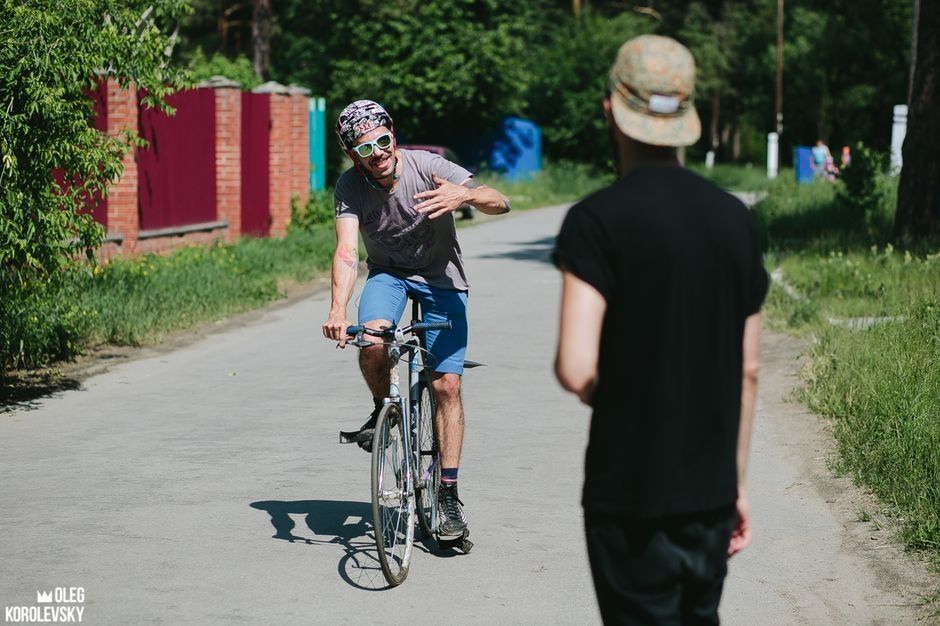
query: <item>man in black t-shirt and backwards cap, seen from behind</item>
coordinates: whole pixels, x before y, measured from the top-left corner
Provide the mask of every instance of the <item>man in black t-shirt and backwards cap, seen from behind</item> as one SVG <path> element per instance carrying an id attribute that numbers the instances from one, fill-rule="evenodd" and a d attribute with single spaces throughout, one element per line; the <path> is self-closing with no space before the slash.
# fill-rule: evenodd
<path id="1" fill-rule="evenodd" d="M 568 212 L 556 374 L 593 410 L 582 504 L 606 623 L 717 623 L 750 542 L 744 468 L 767 273 L 741 202 L 683 169 L 695 65 L 626 42 L 604 113 L 621 178 Z"/>

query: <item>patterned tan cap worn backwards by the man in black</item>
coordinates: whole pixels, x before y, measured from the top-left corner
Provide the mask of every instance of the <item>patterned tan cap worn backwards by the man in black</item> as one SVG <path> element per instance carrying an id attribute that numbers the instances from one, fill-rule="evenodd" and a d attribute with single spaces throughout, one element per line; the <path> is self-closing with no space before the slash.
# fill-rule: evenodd
<path id="1" fill-rule="evenodd" d="M 654 146 L 688 146 L 702 134 L 695 112 L 695 59 L 674 39 L 640 35 L 620 46 L 610 68 L 614 121 Z"/>

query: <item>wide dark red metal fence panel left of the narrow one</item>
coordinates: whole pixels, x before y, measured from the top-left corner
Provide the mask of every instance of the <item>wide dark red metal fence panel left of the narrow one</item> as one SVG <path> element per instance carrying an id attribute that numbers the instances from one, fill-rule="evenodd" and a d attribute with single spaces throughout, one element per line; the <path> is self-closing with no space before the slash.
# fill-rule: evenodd
<path id="1" fill-rule="evenodd" d="M 173 117 L 140 110 L 140 135 L 149 142 L 137 151 L 141 230 L 217 219 L 215 91 L 180 91 L 166 101 Z"/>

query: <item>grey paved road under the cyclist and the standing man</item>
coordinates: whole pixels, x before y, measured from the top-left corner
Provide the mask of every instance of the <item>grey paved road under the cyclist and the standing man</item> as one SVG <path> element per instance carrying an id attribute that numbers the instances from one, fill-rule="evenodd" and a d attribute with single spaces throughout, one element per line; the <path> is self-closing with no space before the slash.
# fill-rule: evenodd
<path id="1" fill-rule="evenodd" d="M 472 554 L 422 548 L 406 583 L 383 589 L 368 457 L 336 443 L 369 402 L 356 353 L 318 337 L 319 294 L 0 413 L 0 607 L 82 587 L 90 624 L 598 622 L 578 506 L 587 411 L 550 370 L 559 284 L 548 253 L 562 216 L 461 231 L 468 357 L 489 364 L 465 383 Z M 906 609 L 879 606 L 909 600 L 801 477 L 817 444 L 787 433 L 812 439 L 815 418 L 781 400 L 792 342 L 768 341 L 757 538 L 732 562 L 725 620 L 905 621 Z"/>

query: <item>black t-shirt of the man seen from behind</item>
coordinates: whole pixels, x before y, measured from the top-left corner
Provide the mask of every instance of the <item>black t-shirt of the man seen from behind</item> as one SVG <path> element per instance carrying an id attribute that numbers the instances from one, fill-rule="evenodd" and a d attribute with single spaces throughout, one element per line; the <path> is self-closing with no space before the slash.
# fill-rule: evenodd
<path id="1" fill-rule="evenodd" d="M 744 322 L 767 293 L 750 211 L 689 170 L 644 165 L 571 208 L 554 260 L 607 301 L 585 508 L 732 504 Z"/>

